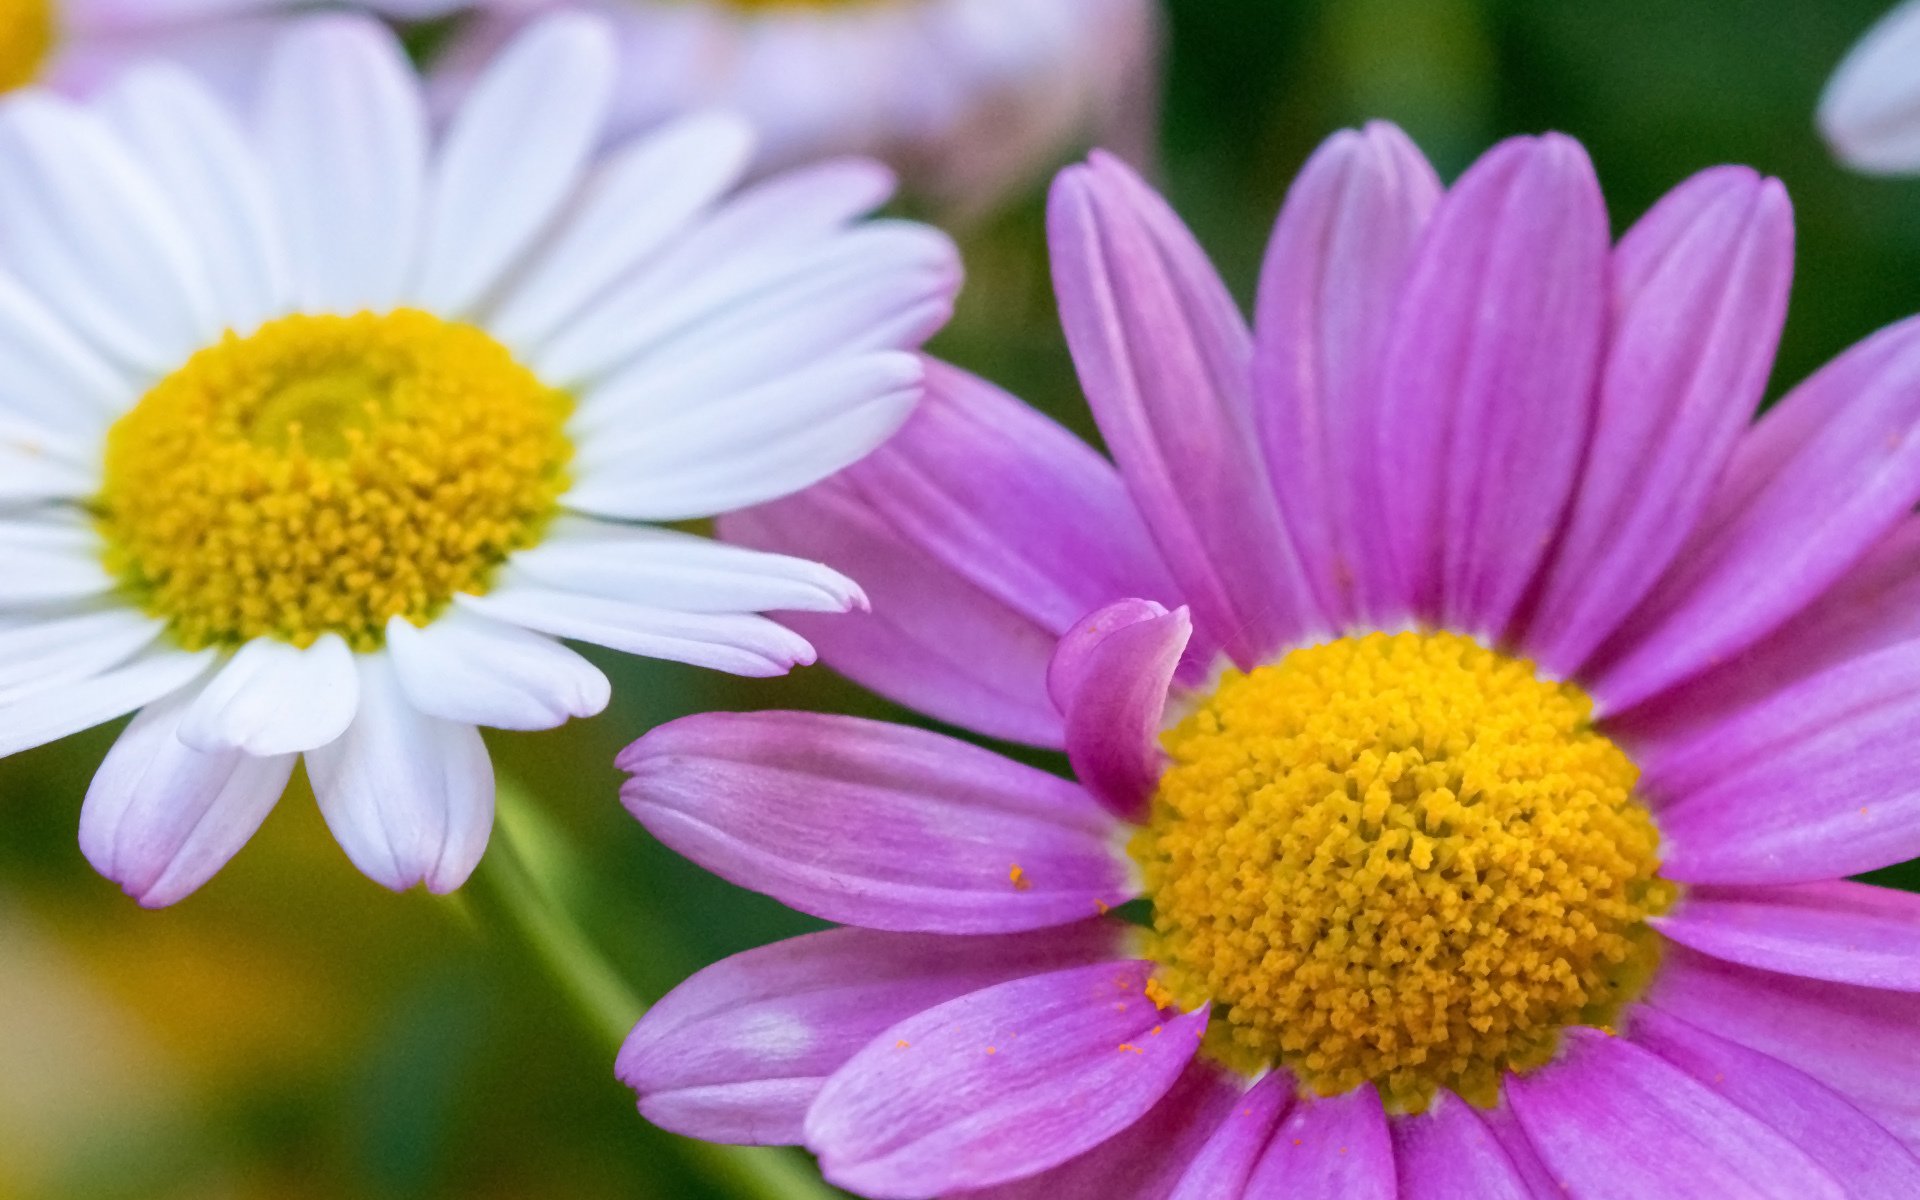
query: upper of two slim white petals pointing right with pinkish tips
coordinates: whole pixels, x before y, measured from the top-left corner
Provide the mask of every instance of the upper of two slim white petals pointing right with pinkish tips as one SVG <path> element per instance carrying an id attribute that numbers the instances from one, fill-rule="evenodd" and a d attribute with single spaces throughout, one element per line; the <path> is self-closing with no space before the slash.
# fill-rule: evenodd
<path id="1" fill-rule="evenodd" d="M 678 530 L 563 516 L 513 557 L 538 584 L 678 612 L 847 612 L 860 588 L 820 563 L 728 545 Z"/>

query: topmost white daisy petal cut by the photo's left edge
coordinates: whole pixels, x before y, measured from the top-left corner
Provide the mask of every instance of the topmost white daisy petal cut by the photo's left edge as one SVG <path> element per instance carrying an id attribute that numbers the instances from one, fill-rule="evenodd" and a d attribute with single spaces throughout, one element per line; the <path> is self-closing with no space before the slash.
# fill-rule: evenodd
<path id="1" fill-rule="evenodd" d="M 192 240 L 94 115 L 36 92 L 0 109 L 0 250 L 96 346 L 173 371 L 219 332 Z"/>

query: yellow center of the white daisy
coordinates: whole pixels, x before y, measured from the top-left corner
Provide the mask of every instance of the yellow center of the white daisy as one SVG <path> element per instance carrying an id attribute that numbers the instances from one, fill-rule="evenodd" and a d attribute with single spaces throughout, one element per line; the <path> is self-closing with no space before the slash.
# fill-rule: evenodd
<path id="1" fill-rule="evenodd" d="M 538 541 L 572 399 L 428 313 L 228 334 L 108 434 L 108 568 L 188 647 L 432 620 Z"/>

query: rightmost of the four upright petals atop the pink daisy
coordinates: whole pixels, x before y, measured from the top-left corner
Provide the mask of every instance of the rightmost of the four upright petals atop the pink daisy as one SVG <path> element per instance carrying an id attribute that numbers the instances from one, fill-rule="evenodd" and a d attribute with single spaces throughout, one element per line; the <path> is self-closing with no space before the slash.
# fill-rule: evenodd
<path id="1" fill-rule="evenodd" d="M 1574 674 L 1699 520 L 1772 371 L 1793 280 L 1780 180 L 1716 167 L 1640 219 L 1613 257 L 1594 444 L 1526 649 Z"/>

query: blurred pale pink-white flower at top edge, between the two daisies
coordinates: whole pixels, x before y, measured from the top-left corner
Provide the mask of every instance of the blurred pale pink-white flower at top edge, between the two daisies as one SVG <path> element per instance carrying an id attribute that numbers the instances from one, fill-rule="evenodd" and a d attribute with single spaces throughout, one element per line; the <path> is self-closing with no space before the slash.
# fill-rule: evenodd
<path id="1" fill-rule="evenodd" d="M 455 94 L 526 13 L 476 0 L 442 61 Z M 760 167 L 868 154 L 933 200 L 983 207 L 1079 142 L 1139 157 L 1156 127 L 1156 0 L 570 0 L 620 36 L 616 121 L 699 106 L 762 131 Z"/>

